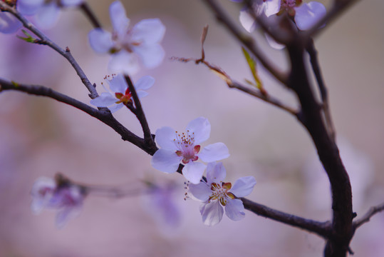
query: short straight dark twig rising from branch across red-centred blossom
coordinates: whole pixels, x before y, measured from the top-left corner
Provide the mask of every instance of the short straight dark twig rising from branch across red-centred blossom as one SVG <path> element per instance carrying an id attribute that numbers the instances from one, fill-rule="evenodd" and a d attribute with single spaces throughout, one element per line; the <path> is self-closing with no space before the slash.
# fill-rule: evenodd
<path id="1" fill-rule="evenodd" d="M 142 133 L 144 133 L 144 140 L 148 144 L 148 146 L 154 146 L 156 148 L 155 141 L 153 141 L 152 134 L 150 132 L 150 126 L 148 126 L 147 119 L 145 118 L 145 113 L 142 110 L 142 106 L 140 103 L 139 96 L 137 96 L 137 92 L 135 86 L 133 86 L 132 80 L 130 76 L 125 76 L 125 80 L 128 83 L 128 88 L 130 89 L 130 94 L 132 94 L 133 101 L 135 102 L 135 116 L 140 121 L 140 125 L 142 127 Z"/>

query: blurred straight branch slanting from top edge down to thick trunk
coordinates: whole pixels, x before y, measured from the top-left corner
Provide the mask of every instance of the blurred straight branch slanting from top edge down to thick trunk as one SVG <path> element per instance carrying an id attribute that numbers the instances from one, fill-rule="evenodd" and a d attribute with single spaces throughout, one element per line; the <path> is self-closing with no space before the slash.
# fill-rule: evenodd
<path id="1" fill-rule="evenodd" d="M 266 68 L 266 70 L 268 70 L 277 80 L 281 81 L 282 84 L 286 84 L 288 76 L 283 72 L 279 71 L 279 69 L 277 69 L 276 66 L 274 66 L 274 64 L 272 64 L 271 61 L 266 58 L 266 56 L 264 56 L 262 51 L 260 51 L 259 48 L 256 46 L 254 39 L 239 30 L 238 27 L 232 21 L 232 19 L 224 12 L 222 7 L 219 6 L 216 1 L 203 1 L 212 10 L 214 15 L 216 16 L 216 19 L 222 22 L 222 24 L 227 27 L 227 29 L 232 33 L 232 35 L 235 36 L 242 44 L 244 44 L 245 47 L 247 47 L 249 52 L 251 52 L 251 54 L 253 54 L 256 59 L 259 59 L 259 61 Z"/>

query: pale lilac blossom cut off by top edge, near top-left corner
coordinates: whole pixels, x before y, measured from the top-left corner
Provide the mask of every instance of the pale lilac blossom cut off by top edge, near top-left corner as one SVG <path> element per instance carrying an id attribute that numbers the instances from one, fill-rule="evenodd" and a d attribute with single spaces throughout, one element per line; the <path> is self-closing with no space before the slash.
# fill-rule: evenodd
<path id="1" fill-rule="evenodd" d="M 18 0 L 17 8 L 21 14 L 36 15 L 35 23 L 42 29 L 54 26 L 62 7 L 78 6 L 83 0 Z"/>

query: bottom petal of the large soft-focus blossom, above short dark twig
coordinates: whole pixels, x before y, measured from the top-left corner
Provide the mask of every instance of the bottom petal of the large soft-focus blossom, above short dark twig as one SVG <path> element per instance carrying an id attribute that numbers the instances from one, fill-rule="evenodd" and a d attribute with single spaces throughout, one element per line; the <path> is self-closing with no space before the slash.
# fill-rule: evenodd
<path id="1" fill-rule="evenodd" d="M 113 72 L 123 72 L 124 74 L 133 75 L 139 71 L 139 62 L 135 54 L 121 50 L 111 56 L 108 69 Z"/>

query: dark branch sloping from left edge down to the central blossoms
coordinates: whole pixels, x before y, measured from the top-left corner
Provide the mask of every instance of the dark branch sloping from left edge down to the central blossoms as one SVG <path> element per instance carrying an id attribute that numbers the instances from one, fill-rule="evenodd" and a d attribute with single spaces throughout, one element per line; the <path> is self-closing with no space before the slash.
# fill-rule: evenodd
<path id="1" fill-rule="evenodd" d="M 16 82 L 6 81 L 0 78 L 0 93 L 1 91 L 6 90 L 21 91 L 36 96 L 47 96 L 61 103 L 73 106 L 77 109 L 80 109 L 81 111 L 84 111 L 86 114 L 93 116 L 99 121 L 102 121 L 104 124 L 110 126 L 110 128 L 120 134 L 121 138 L 124 141 L 129 141 L 130 143 L 133 143 L 135 146 L 141 148 L 146 153 L 153 155 L 153 153 L 157 151 L 156 146 L 147 145 L 143 138 L 136 136 L 134 133 L 126 129 L 125 126 L 120 124 L 107 109 L 94 109 L 93 107 L 88 106 L 87 104 L 84 104 L 81 101 L 73 99 L 65 94 L 61 94 L 46 86 L 18 84 Z"/>

